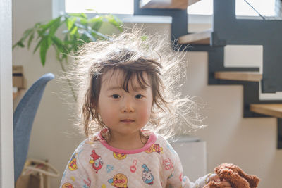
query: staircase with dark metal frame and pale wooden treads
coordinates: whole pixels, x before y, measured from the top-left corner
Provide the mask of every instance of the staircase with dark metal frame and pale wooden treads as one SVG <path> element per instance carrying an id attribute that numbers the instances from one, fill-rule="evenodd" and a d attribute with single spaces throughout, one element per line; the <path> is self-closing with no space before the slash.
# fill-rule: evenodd
<path id="1" fill-rule="evenodd" d="M 262 82 L 263 92 L 265 92 L 264 90 L 269 92 L 271 89 L 271 92 L 280 92 L 282 91 L 281 87 L 278 87 L 278 90 L 270 88 L 269 85 L 272 86 L 272 84 L 267 84 L 269 80 L 264 79 L 266 76 L 259 73 L 259 68 L 226 68 L 224 67 L 223 58 L 224 46 L 228 44 L 247 45 L 256 43 L 259 40 L 255 38 L 257 36 L 252 35 L 254 32 L 257 32 L 255 29 L 257 25 L 267 24 L 273 25 L 272 27 L 276 27 L 276 25 L 282 25 L 281 21 L 235 20 L 235 0 L 216 0 L 214 1 L 214 22 L 212 30 L 189 33 L 185 30 L 185 28 L 188 27 L 188 23 L 187 20 L 185 20 L 185 18 L 187 18 L 187 15 L 185 14 L 187 13 L 183 10 L 197 1 L 199 0 L 135 0 L 135 15 L 147 15 L 148 13 L 150 15 L 154 15 L 154 13 L 156 13 L 155 15 L 171 15 L 171 17 L 173 17 L 173 22 L 171 24 L 171 36 L 178 39 L 178 44 L 182 44 L 183 49 L 188 51 L 208 51 L 209 84 L 242 84 L 244 87 L 245 118 L 275 117 L 278 119 L 277 148 L 282 149 L 282 101 L 260 101 L 259 82 Z M 159 10 L 161 8 L 163 8 L 162 11 Z M 180 17 L 180 14 L 183 14 L 182 17 Z M 179 18 L 183 18 L 183 20 Z M 181 24 L 178 24 L 178 22 Z M 252 27 L 247 27 L 249 30 L 246 30 L 244 27 L 246 25 L 253 25 L 254 30 L 249 31 Z M 270 26 L 266 27 L 266 30 L 269 27 Z M 180 31 L 176 30 L 176 28 Z M 269 38 L 269 36 L 265 36 L 264 32 L 265 31 L 262 31 L 262 34 L 259 34 L 262 36 L 258 35 L 260 39 Z M 249 33 L 248 36 L 243 35 L 245 33 Z M 279 34 L 279 30 L 277 30 L 277 33 Z M 187 45 L 192 46 L 192 48 L 185 48 Z M 267 42 L 263 45 L 264 48 L 273 46 L 273 44 L 267 44 Z M 275 50 L 271 50 L 268 51 L 268 53 L 277 52 L 275 52 Z M 264 56 L 268 56 L 267 58 L 264 58 L 264 61 L 265 59 L 269 60 L 271 58 L 271 54 L 264 54 Z M 280 61 L 282 61 L 282 59 Z M 264 68 L 269 64 L 269 62 L 264 62 Z M 275 65 L 277 64 L 278 63 Z M 269 74 L 271 73 L 269 73 L 269 69 L 267 68 L 266 70 L 268 72 L 263 71 L 264 74 L 266 72 L 266 74 L 268 74 L 267 77 L 270 77 Z M 273 72 L 276 72 L 276 70 Z M 277 80 L 282 82 L 282 79 Z"/>

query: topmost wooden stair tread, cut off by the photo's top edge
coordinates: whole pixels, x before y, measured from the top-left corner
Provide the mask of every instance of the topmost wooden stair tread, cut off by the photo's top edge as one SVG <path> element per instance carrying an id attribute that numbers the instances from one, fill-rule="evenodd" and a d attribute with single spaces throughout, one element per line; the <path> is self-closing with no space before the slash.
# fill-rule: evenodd
<path id="1" fill-rule="evenodd" d="M 200 0 L 140 0 L 140 8 L 183 9 Z"/>

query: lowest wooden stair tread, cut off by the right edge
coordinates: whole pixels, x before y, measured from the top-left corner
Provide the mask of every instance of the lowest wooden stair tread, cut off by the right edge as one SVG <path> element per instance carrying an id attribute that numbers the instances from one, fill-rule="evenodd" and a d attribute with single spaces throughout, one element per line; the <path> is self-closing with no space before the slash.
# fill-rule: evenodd
<path id="1" fill-rule="evenodd" d="M 282 104 L 251 104 L 250 111 L 282 118 Z"/>

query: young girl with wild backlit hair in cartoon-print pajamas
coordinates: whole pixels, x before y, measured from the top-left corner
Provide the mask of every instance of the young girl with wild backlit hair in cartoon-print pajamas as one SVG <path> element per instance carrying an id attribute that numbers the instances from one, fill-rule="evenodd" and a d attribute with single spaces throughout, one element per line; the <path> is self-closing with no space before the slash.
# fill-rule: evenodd
<path id="1" fill-rule="evenodd" d="M 204 187 L 210 180 L 231 187 L 211 174 L 190 182 L 166 141 L 181 125 L 201 127 L 195 104 L 180 98 L 182 59 L 161 37 L 137 31 L 82 46 L 73 80 L 87 139 L 61 187 Z"/>

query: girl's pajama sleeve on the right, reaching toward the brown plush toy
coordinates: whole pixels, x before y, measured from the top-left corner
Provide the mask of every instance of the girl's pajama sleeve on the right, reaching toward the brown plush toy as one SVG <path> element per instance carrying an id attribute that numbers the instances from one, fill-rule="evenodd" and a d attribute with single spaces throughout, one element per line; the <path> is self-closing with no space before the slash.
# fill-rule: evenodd
<path id="1" fill-rule="evenodd" d="M 168 188 L 202 188 L 205 184 L 209 182 L 209 177 L 213 174 L 207 174 L 203 177 L 199 177 L 195 182 L 191 182 L 188 177 L 183 175 L 183 166 L 180 162 L 180 158 L 176 153 L 176 158 L 174 161 L 173 171 L 168 177 L 167 187 Z"/>

